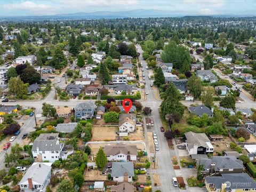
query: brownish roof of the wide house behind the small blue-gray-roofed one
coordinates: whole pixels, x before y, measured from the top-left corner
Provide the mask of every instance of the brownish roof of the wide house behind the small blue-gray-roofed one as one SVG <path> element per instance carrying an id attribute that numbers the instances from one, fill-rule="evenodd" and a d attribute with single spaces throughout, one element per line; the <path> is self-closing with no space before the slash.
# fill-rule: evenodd
<path id="1" fill-rule="evenodd" d="M 136 145 L 125 145 L 124 143 L 118 143 L 114 146 L 105 146 L 104 151 L 106 155 L 137 155 L 137 146 Z"/>

